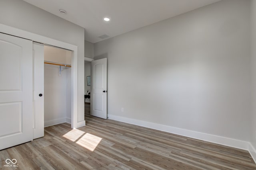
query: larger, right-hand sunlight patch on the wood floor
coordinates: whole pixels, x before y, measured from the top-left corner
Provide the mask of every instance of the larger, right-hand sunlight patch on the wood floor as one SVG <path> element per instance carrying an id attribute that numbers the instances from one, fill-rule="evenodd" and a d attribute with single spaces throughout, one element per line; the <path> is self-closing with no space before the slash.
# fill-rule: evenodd
<path id="1" fill-rule="evenodd" d="M 81 137 L 76 144 L 90 150 L 94 151 L 94 149 L 98 146 L 102 138 L 92 135 L 90 133 L 86 133 L 83 137 Z"/>

